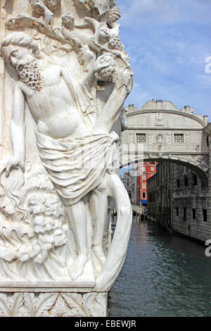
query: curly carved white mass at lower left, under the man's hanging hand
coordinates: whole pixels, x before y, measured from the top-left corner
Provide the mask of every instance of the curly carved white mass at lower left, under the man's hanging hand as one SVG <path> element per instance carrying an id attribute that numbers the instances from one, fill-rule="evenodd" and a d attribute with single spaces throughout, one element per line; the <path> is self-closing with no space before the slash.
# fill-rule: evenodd
<path id="1" fill-rule="evenodd" d="M 34 169 L 28 162 L 24 177 L 19 168 L 8 176 L 4 171 L 1 185 L 0 280 L 5 281 L 5 274 L 12 280 L 67 280 L 66 265 L 75 254 L 75 242 L 44 168 Z M 56 259 L 59 263 L 53 263 Z"/>

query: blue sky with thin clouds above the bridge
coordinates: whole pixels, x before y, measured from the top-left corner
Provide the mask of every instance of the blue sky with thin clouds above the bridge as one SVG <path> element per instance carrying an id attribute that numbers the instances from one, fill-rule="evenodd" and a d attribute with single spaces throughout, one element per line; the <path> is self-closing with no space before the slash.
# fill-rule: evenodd
<path id="1" fill-rule="evenodd" d="M 126 106 L 170 100 L 211 121 L 211 73 L 205 72 L 207 56 L 211 63 L 211 0 L 117 0 L 117 6 L 134 71 Z"/>

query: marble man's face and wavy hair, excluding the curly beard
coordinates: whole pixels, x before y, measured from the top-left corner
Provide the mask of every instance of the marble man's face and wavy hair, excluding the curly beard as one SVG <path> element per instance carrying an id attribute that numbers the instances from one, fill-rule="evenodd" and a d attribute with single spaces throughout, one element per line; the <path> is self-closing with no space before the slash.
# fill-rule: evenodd
<path id="1" fill-rule="evenodd" d="M 21 65 L 33 61 L 34 57 L 39 57 L 39 47 L 23 32 L 13 32 L 2 40 L 1 56 L 6 63 L 20 68 Z"/>

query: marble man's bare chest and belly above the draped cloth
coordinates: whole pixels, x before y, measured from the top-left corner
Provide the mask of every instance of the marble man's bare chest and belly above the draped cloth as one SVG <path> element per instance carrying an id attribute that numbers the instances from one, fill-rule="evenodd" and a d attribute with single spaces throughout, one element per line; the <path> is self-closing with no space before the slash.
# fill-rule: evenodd
<path id="1" fill-rule="evenodd" d="M 39 92 L 22 82 L 19 85 L 39 131 L 56 138 L 84 137 L 89 132 L 75 106 L 73 91 L 65 82 L 63 70 L 53 65 L 41 71 L 43 88 Z"/>

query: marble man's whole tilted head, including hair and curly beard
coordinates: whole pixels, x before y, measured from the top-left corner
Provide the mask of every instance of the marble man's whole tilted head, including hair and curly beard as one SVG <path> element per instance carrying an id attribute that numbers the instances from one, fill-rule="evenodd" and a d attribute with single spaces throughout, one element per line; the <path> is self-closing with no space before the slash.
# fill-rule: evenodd
<path id="1" fill-rule="evenodd" d="M 39 58 L 39 47 L 23 32 L 13 32 L 1 42 L 1 56 L 17 71 L 20 80 L 28 87 L 40 91 L 41 75 L 35 58 Z"/>

